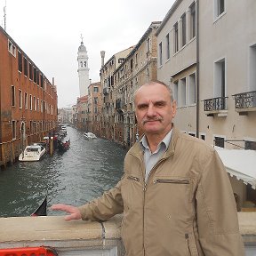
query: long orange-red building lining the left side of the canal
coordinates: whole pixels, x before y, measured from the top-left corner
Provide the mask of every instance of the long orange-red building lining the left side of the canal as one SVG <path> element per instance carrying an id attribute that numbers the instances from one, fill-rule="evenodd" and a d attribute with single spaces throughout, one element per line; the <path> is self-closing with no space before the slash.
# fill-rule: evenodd
<path id="1" fill-rule="evenodd" d="M 0 27 L 0 165 L 57 125 L 57 89 Z"/>

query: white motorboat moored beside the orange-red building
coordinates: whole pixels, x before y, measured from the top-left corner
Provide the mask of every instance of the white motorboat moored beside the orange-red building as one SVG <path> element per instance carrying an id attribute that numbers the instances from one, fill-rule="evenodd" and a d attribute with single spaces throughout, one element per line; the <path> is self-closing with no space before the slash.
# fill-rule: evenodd
<path id="1" fill-rule="evenodd" d="M 19 160 L 21 162 L 39 161 L 45 153 L 46 149 L 42 145 L 35 143 L 25 148 L 25 150 L 20 154 Z"/>

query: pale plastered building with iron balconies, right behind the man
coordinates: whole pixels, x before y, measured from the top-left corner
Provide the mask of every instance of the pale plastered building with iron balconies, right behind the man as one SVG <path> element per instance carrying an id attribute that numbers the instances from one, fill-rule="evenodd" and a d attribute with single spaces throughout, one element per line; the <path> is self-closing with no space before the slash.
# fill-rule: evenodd
<path id="1" fill-rule="evenodd" d="M 157 76 L 172 85 L 174 122 L 212 146 L 256 149 L 254 12 L 252 0 L 177 0 L 156 32 Z M 230 180 L 241 202 L 256 204 L 250 186 Z"/>

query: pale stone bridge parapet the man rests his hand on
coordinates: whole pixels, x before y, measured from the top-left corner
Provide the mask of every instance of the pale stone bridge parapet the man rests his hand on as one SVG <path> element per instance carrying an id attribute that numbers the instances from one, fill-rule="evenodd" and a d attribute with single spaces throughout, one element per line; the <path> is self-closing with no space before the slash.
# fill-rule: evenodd
<path id="1" fill-rule="evenodd" d="M 256 212 L 238 212 L 239 228 L 243 236 L 246 256 L 256 255 Z M 38 256 L 93 255 L 124 256 L 120 236 L 122 215 L 104 222 L 63 220 L 63 216 L 0 218 L 0 256 L 21 255 L 9 249 L 48 248 Z M 26 253 L 26 247 L 27 252 Z M 51 248 L 52 250 L 50 250 Z M 3 250 L 5 249 L 5 250 Z M 8 249 L 6 251 L 6 249 Z M 53 253 L 56 252 L 56 253 Z M 36 252 L 32 253 L 37 256 Z"/>

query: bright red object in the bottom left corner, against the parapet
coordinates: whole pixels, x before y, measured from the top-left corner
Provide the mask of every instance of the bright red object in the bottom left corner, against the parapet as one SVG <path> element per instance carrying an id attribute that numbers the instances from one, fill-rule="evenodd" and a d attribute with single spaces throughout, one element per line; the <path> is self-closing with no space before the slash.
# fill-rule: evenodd
<path id="1" fill-rule="evenodd" d="M 58 252 L 47 246 L 0 249 L 0 256 L 57 256 Z"/>

